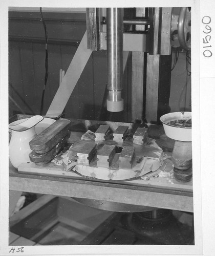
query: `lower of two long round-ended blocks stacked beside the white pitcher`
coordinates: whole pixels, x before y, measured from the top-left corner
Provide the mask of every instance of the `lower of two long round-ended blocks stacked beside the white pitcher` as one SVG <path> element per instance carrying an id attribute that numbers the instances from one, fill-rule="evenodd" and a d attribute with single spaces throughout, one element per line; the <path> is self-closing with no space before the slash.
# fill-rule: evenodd
<path id="1" fill-rule="evenodd" d="M 63 138 L 57 145 L 55 145 L 52 150 L 45 154 L 37 154 L 32 151 L 29 154 L 31 162 L 36 164 L 46 164 L 49 163 L 60 151 L 67 145 L 68 136 Z"/>

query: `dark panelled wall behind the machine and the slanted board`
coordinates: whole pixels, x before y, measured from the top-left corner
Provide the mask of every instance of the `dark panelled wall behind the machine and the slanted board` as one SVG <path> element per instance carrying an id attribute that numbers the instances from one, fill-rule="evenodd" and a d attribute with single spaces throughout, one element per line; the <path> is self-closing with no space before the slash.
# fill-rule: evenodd
<path id="1" fill-rule="evenodd" d="M 49 76 L 44 111 L 59 86 L 59 70 L 67 71 L 86 30 L 85 13 L 43 12 L 48 31 Z M 190 81 L 187 81 L 185 54 L 180 54 L 171 74 L 171 111 L 191 109 Z M 39 11 L 9 12 L 9 117 L 16 113 L 37 115 L 45 78 L 45 30 Z M 188 83 L 187 83 L 188 82 Z M 106 87 L 106 51 L 93 52 L 66 105 L 66 117 L 108 119 L 103 98 Z M 125 110 L 118 121 L 131 121 L 131 58 L 124 72 Z M 187 90 L 188 88 L 188 90 Z"/>

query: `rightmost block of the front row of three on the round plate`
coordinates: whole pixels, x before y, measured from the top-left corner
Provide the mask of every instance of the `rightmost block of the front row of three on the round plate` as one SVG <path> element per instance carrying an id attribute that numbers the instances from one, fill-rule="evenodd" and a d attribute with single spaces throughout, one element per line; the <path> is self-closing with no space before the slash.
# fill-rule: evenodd
<path id="1" fill-rule="evenodd" d="M 135 157 L 135 147 L 124 146 L 119 156 L 119 167 L 131 169 L 134 157 Z"/>

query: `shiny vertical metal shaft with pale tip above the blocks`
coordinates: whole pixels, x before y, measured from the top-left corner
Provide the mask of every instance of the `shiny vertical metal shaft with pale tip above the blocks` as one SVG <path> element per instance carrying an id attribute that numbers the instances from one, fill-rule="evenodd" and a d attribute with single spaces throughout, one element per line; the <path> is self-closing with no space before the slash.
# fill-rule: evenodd
<path id="1" fill-rule="evenodd" d="M 107 111 L 123 110 L 123 8 L 107 8 Z"/>

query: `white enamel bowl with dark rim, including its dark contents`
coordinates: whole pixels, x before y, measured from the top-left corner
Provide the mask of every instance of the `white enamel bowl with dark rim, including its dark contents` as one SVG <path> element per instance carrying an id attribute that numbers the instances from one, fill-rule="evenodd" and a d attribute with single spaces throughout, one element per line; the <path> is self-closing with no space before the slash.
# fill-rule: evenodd
<path id="1" fill-rule="evenodd" d="M 167 137 L 179 141 L 192 141 L 191 112 L 172 112 L 160 117 Z"/>

